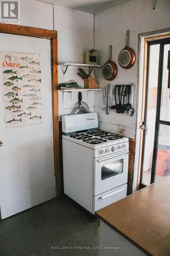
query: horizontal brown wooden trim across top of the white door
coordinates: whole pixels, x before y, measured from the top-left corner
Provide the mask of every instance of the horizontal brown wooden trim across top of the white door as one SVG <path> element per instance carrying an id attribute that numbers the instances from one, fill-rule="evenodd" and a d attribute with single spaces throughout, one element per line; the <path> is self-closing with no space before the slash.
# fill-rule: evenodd
<path id="1" fill-rule="evenodd" d="M 32 36 L 40 38 L 57 38 L 57 31 L 48 29 L 39 29 L 11 24 L 0 24 L 0 33 L 22 35 L 22 36 Z"/>

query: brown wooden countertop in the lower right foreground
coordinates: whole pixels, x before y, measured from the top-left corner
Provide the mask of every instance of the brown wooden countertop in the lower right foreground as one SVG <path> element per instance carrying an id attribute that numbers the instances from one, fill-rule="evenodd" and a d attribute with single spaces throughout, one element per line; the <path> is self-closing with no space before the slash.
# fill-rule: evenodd
<path id="1" fill-rule="evenodd" d="M 96 212 L 142 251 L 170 255 L 170 176 Z"/>

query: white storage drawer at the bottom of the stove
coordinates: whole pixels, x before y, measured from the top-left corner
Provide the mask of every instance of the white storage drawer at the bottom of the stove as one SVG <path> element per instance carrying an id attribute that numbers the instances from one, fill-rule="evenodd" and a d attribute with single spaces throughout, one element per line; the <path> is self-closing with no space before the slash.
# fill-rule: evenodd
<path id="1" fill-rule="evenodd" d="M 93 196 L 93 214 L 127 196 L 127 184 L 111 189 L 101 195 Z"/>

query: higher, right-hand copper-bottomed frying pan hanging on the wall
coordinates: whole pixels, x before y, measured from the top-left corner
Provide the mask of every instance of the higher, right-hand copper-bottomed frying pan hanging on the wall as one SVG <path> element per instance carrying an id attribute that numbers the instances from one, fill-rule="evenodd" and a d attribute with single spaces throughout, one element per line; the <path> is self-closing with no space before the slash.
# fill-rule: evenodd
<path id="1" fill-rule="evenodd" d="M 130 69 L 135 63 L 135 52 L 132 48 L 128 47 L 130 31 L 126 32 L 126 43 L 125 48 L 118 55 L 119 65 L 123 69 Z"/>

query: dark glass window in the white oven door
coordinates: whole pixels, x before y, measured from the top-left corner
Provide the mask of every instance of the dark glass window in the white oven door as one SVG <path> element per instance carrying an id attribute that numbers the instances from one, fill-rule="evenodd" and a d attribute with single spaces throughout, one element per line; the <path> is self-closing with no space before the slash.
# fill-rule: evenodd
<path id="1" fill-rule="evenodd" d="M 123 159 L 102 165 L 102 180 L 123 173 Z"/>

